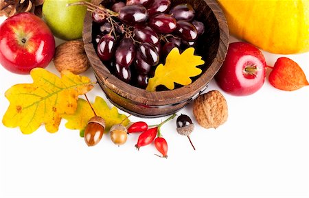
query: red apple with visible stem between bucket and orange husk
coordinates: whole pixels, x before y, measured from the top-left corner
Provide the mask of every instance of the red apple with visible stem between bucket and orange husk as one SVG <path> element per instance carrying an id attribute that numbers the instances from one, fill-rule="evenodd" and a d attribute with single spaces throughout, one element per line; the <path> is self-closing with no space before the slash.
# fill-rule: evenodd
<path id="1" fill-rule="evenodd" d="M 215 76 L 218 86 L 231 95 L 251 95 L 264 84 L 266 61 L 263 53 L 247 42 L 229 44 L 227 56 Z"/>

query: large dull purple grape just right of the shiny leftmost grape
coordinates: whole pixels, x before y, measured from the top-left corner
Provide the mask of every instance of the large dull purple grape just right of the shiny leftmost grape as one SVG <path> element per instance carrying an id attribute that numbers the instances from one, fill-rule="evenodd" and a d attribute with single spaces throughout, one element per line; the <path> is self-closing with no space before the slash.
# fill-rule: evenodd
<path id="1" fill-rule="evenodd" d="M 120 66 L 130 66 L 135 58 L 135 46 L 131 38 L 122 38 L 115 50 L 115 60 Z"/>

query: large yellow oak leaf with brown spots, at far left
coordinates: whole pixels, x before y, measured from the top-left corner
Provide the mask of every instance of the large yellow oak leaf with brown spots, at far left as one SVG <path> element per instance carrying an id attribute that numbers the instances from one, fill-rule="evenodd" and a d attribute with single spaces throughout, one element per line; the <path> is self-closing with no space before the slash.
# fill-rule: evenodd
<path id="1" fill-rule="evenodd" d="M 2 123 L 6 127 L 20 127 L 23 134 L 31 134 L 45 124 L 47 132 L 57 132 L 61 114 L 73 114 L 78 95 L 93 88 L 88 77 L 62 71 L 61 78 L 36 68 L 30 75 L 32 84 L 16 84 L 5 92 L 10 106 Z"/>

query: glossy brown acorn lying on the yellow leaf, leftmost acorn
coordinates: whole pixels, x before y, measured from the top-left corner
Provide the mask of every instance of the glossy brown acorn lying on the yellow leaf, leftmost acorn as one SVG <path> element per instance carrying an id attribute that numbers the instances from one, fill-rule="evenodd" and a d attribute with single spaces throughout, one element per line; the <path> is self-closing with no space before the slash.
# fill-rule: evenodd
<path id="1" fill-rule="evenodd" d="M 103 134 L 105 129 L 105 121 L 100 116 L 92 117 L 88 123 L 87 127 L 84 130 L 84 141 L 89 147 L 93 147 L 97 145 Z"/>

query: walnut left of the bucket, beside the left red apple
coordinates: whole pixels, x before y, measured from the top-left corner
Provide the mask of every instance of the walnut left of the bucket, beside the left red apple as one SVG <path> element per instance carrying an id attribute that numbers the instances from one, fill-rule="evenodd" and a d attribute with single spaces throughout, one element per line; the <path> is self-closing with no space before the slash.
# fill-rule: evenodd
<path id="1" fill-rule="evenodd" d="M 84 42 L 70 40 L 58 45 L 55 51 L 54 64 L 59 72 L 68 70 L 71 73 L 80 74 L 89 69 L 90 64 L 84 51 Z"/>

